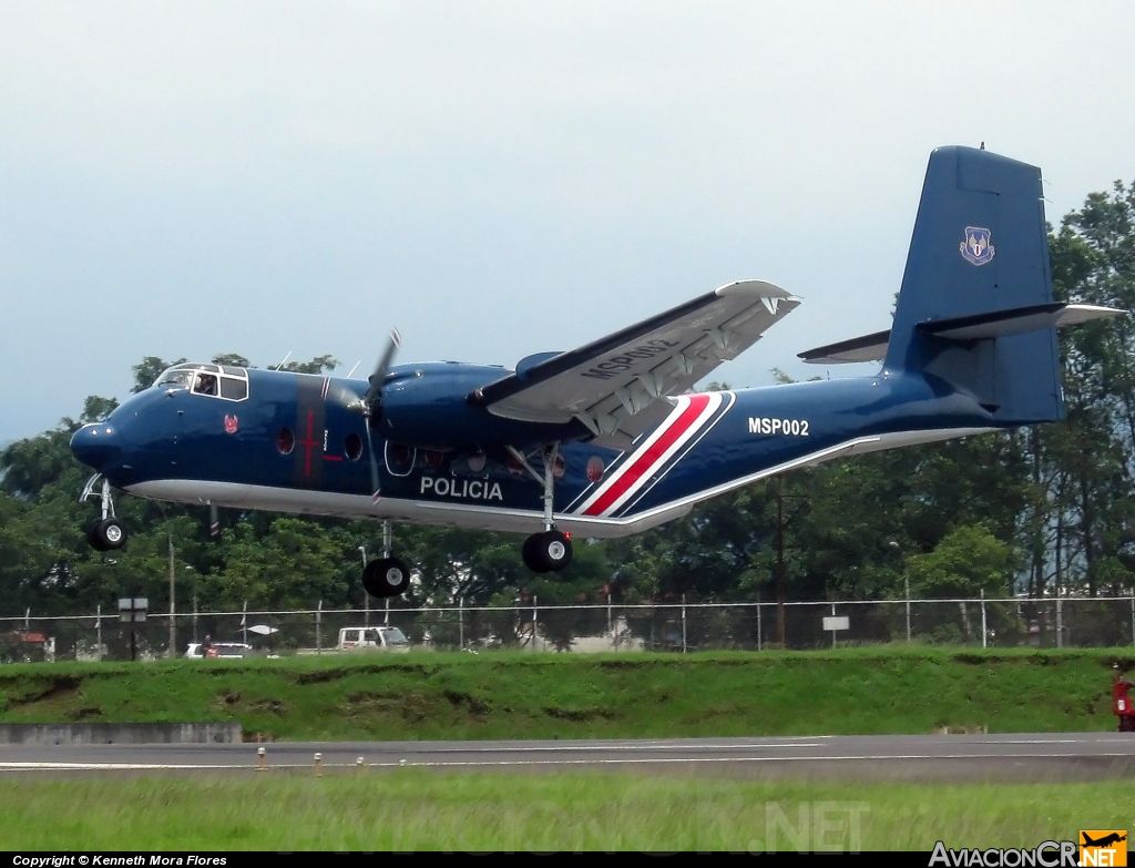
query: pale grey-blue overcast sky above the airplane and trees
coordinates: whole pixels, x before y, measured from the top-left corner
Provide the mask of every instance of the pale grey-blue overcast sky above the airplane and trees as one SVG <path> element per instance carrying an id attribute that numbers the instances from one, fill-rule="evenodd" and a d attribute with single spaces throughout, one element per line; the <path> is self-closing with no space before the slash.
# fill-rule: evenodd
<path id="1" fill-rule="evenodd" d="M 1129 0 L 0 5 L 0 444 L 145 355 L 513 364 L 741 278 L 889 326 L 930 151 L 1135 179 Z M 833 368 L 832 377 L 869 366 Z"/>

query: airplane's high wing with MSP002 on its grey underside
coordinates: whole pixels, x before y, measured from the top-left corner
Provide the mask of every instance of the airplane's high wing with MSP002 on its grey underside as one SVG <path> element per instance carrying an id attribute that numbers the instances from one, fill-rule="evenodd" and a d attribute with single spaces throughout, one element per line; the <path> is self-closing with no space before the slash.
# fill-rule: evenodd
<path id="1" fill-rule="evenodd" d="M 666 397 L 737 357 L 799 304 L 779 286 L 739 280 L 579 349 L 528 356 L 469 399 L 506 419 L 577 419 L 595 443 L 627 449 L 670 412 Z"/>

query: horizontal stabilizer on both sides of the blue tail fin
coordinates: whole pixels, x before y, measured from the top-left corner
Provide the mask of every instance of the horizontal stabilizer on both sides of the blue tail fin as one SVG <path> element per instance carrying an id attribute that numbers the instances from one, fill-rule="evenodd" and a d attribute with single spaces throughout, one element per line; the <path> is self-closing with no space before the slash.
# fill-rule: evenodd
<path id="1" fill-rule="evenodd" d="M 1103 307 L 1098 304 L 1060 304 L 1056 302 L 980 313 L 973 317 L 931 320 L 918 323 L 918 329 L 928 335 L 952 340 L 983 340 L 1041 329 L 1079 326 L 1091 320 L 1116 317 L 1120 313 L 1127 313 L 1127 311 L 1118 307 Z M 799 357 L 808 364 L 880 362 L 886 355 L 890 337 L 890 331 L 876 331 L 873 335 L 864 335 L 850 340 L 841 340 L 838 344 L 808 349 L 800 353 Z"/>

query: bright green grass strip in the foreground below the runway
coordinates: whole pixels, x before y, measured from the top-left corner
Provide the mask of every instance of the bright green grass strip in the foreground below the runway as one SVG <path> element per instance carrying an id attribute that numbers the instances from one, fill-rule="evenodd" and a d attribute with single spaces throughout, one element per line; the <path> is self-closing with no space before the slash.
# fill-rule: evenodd
<path id="1" fill-rule="evenodd" d="M 1033 848 L 1135 826 L 1129 783 L 860 784 L 606 774 L 0 779 L 0 850 Z"/>

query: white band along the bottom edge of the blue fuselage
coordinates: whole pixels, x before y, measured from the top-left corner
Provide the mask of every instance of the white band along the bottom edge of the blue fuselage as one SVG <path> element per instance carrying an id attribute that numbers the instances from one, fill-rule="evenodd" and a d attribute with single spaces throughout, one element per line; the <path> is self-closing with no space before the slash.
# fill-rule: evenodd
<path id="1" fill-rule="evenodd" d="M 932 431 L 900 431 L 897 433 L 857 437 L 826 449 L 794 458 L 783 464 L 740 477 L 714 488 L 688 495 L 661 506 L 621 519 L 583 516 L 556 513 L 556 526 L 577 536 L 613 538 L 639 533 L 664 524 L 688 513 L 695 504 L 723 495 L 765 477 L 797 467 L 821 464 L 833 458 L 861 455 L 868 452 L 911 446 L 919 443 L 949 440 L 956 437 L 989 433 L 997 428 L 950 428 Z M 185 504 L 216 504 L 217 506 L 267 512 L 336 515 L 344 519 L 392 519 L 419 524 L 452 524 L 461 528 L 530 533 L 543 520 L 539 509 L 510 509 L 502 506 L 444 503 L 435 500 L 405 500 L 382 497 L 377 503 L 370 495 L 347 495 L 337 491 L 313 491 L 300 488 L 274 488 L 239 482 L 210 482 L 193 479 L 168 479 L 138 482 L 126 490 L 154 500 Z"/>

